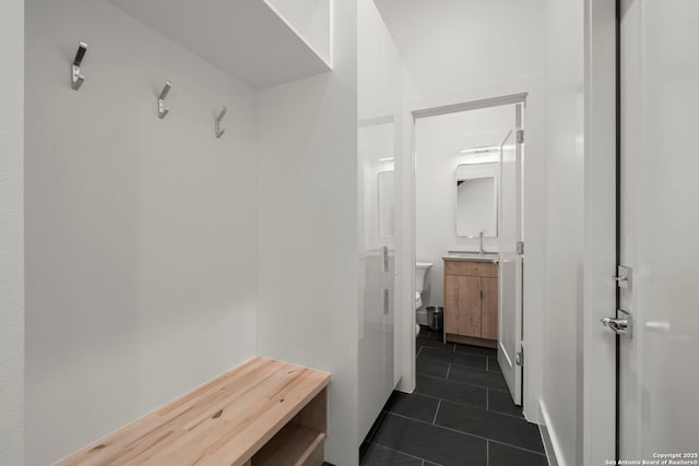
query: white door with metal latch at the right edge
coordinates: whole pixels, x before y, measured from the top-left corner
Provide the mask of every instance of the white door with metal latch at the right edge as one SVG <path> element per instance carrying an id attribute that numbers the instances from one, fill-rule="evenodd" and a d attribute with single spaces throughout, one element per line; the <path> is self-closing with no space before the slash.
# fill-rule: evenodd
<path id="1" fill-rule="evenodd" d="M 621 459 L 699 461 L 698 110 L 699 1 L 623 0 Z"/>

